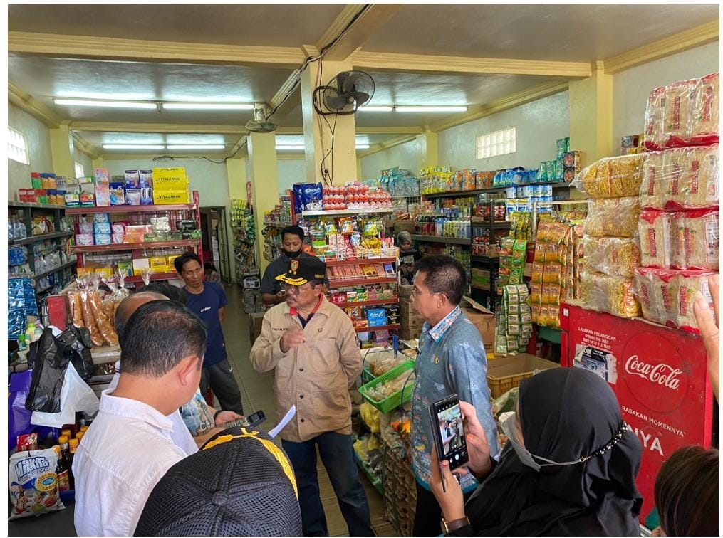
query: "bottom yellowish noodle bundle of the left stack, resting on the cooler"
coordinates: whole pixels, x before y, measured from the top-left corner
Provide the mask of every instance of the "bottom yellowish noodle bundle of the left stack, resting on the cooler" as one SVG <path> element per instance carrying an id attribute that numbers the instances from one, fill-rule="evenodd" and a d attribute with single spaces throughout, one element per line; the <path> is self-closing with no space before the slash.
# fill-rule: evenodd
<path id="1" fill-rule="evenodd" d="M 631 278 L 583 271 L 580 287 L 584 308 L 620 318 L 635 318 L 641 314 Z"/>

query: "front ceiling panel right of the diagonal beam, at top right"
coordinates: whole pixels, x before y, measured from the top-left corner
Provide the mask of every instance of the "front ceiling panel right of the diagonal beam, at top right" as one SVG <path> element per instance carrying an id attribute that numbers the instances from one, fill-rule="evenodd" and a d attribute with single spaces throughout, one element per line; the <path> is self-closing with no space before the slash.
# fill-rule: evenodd
<path id="1" fill-rule="evenodd" d="M 407 4 L 364 51 L 595 61 L 718 19 L 717 4 Z M 421 37 L 421 38 L 420 38 Z"/>

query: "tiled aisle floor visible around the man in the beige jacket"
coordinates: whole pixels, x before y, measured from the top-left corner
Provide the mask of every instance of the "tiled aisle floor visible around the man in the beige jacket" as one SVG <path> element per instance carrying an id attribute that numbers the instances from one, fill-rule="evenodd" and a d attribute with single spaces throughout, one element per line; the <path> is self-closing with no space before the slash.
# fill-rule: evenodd
<path id="1" fill-rule="evenodd" d="M 248 316 L 241 306 L 241 292 L 238 285 L 226 287 L 228 305 L 226 306 L 226 321 L 223 322 L 223 334 L 226 337 L 226 351 L 228 359 L 234 367 L 234 376 L 241 388 L 244 398 L 244 412 L 247 414 L 262 409 L 268 417 L 265 426 L 275 424 L 273 399 L 273 372 L 257 373 L 249 363 L 250 336 Z M 329 482 L 329 476 L 321 461 L 318 464 L 319 485 L 322 503 L 326 513 L 329 533 L 332 536 L 346 536 L 348 530 L 341 516 L 334 491 Z M 360 473 L 364 489 L 367 490 L 367 499 L 372 513 L 372 527 L 377 536 L 397 536 L 393 526 L 384 517 L 382 497 L 372 486 L 371 482 Z"/>

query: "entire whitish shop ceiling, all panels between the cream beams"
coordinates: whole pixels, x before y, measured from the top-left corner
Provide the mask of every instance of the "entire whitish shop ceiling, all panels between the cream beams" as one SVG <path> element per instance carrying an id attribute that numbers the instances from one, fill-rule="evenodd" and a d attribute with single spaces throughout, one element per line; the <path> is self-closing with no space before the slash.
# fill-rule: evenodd
<path id="1" fill-rule="evenodd" d="M 9 4 L 9 30 L 188 43 L 300 47 L 316 44 L 344 4 Z M 716 20 L 716 4 L 405 4 L 364 42 L 363 51 L 439 56 L 594 61 Z M 119 110 L 61 107 L 52 97 L 268 103 L 291 69 L 26 56 L 10 53 L 8 77 L 70 121 L 242 127 L 251 111 Z M 370 73 L 372 105 L 484 105 L 555 77 Z M 326 81 L 323 81 L 326 82 Z M 301 128 L 301 97 L 273 120 Z M 454 115 L 453 115 L 454 116 Z M 445 113 L 371 113 L 359 127 L 424 126 Z M 142 130 L 142 129 L 141 129 Z M 137 142 L 142 133 L 84 131 L 93 145 Z M 138 136 L 136 138 L 135 136 Z M 223 139 L 240 136 L 158 134 Z M 395 134 L 390 134 L 393 138 Z M 174 138 L 175 137 L 175 138 Z M 372 144 L 385 138 L 371 138 Z M 119 143 L 116 142 L 116 143 Z M 200 143 L 200 142 L 198 142 Z M 206 142 L 213 143 L 213 142 Z"/>

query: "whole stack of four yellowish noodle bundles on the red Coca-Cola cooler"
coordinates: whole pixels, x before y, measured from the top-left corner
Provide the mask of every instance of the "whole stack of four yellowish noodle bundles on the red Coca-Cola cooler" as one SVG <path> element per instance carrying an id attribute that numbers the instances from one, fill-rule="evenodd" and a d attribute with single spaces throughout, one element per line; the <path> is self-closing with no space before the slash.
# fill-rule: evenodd
<path id="1" fill-rule="evenodd" d="M 641 312 L 633 277 L 641 261 L 637 235 L 644 160 L 641 154 L 602 159 L 573 183 L 591 199 L 583 228 L 583 305 L 623 318 Z"/>

